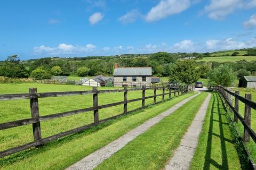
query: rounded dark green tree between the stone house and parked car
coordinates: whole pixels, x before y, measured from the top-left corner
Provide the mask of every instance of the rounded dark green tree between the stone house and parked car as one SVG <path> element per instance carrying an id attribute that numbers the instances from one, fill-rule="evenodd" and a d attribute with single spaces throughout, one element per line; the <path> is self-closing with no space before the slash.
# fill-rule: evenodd
<path id="1" fill-rule="evenodd" d="M 169 81 L 172 83 L 193 84 L 199 79 L 196 64 L 193 61 L 178 61 L 171 69 Z"/>

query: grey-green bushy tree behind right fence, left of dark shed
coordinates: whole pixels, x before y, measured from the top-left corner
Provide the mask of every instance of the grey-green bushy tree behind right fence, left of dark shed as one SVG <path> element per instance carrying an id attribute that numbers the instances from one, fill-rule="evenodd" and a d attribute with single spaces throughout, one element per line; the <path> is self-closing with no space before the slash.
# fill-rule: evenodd
<path id="1" fill-rule="evenodd" d="M 209 72 L 208 79 L 209 84 L 211 85 L 222 85 L 228 87 L 235 81 L 236 73 L 229 65 L 222 64 Z"/>

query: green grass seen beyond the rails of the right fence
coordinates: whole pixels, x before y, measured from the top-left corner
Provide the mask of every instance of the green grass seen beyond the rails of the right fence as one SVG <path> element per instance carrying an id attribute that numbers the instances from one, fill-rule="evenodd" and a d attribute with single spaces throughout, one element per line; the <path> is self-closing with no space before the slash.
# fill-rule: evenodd
<path id="1" fill-rule="evenodd" d="M 249 88 L 235 88 L 233 89 L 233 91 L 239 91 L 239 94 L 243 97 L 245 97 L 245 94 L 252 94 L 252 100 L 256 101 L 256 89 L 249 89 Z M 233 98 L 233 105 L 235 104 L 235 99 Z M 254 132 L 256 131 L 256 111 L 254 109 L 252 109 L 251 111 L 251 128 L 254 130 Z M 242 103 L 241 101 L 239 101 L 239 113 L 244 117 L 244 103 Z M 238 121 L 237 123 L 238 126 L 238 130 L 240 135 L 243 137 L 243 125 L 240 121 Z M 246 143 L 246 147 L 249 149 L 252 159 L 254 160 L 254 162 L 256 162 L 256 144 L 254 143 L 254 141 L 251 139 L 250 142 Z"/>

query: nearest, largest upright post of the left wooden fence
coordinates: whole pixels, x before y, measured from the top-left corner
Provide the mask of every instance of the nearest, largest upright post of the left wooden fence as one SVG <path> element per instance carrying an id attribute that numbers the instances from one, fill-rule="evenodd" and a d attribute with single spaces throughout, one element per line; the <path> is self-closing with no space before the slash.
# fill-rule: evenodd
<path id="1" fill-rule="evenodd" d="M 36 92 L 37 92 L 37 88 L 29 88 L 30 94 L 34 94 Z M 31 111 L 31 117 L 39 117 L 38 98 L 30 99 L 30 111 Z M 33 123 L 32 126 L 33 126 L 34 141 L 37 141 L 42 138 L 40 122 Z"/>

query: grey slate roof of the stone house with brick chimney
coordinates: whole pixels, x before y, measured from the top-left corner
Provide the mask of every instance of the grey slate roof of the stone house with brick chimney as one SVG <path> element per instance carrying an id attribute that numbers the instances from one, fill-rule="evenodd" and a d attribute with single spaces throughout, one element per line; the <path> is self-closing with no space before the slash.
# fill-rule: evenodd
<path id="1" fill-rule="evenodd" d="M 114 76 L 138 76 L 138 75 L 152 75 L 151 67 L 118 67 L 114 70 Z"/>

